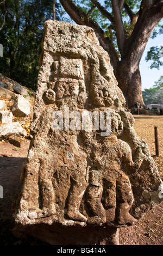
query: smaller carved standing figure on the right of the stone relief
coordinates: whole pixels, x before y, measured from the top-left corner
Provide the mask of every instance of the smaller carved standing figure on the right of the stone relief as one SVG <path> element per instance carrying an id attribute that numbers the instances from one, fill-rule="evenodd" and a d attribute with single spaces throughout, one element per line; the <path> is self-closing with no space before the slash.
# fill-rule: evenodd
<path id="1" fill-rule="evenodd" d="M 129 214 L 133 204 L 133 192 L 127 173 L 133 169 L 129 145 L 117 139 L 122 132 L 120 115 L 115 114 L 111 122 L 111 135 L 102 139 L 90 158 L 92 170 L 87 188 L 86 202 L 94 215 L 90 223 L 116 222 L 134 223 Z"/>

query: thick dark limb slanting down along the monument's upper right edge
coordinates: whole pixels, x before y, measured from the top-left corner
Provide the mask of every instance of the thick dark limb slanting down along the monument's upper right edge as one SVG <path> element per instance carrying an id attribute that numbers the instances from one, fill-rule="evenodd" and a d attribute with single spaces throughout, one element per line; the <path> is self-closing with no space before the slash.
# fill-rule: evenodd
<path id="1" fill-rule="evenodd" d="M 85 25 L 93 28 L 96 33 L 96 36 L 99 40 L 99 44 L 107 51 L 110 55 L 111 65 L 116 68 L 117 63 L 119 62 L 115 48 L 112 46 L 110 39 L 104 33 L 101 27 L 87 17 L 83 10 L 79 9 L 72 0 L 60 0 L 62 7 L 70 15 L 72 20 L 74 20 L 78 25 Z"/>

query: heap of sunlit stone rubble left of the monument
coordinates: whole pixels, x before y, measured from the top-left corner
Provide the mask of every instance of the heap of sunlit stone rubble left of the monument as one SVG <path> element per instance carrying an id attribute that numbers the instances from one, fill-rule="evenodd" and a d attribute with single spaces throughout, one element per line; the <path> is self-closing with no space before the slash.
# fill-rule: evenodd
<path id="1" fill-rule="evenodd" d="M 28 92 L 30 93 L 28 94 Z M 10 123 L 15 123 L 16 118 L 18 118 L 18 121 L 21 125 L 26 125 L 26 122 L 28 122 L 28 120 L 23 121 L 22 123 L 21 118 L 33 118 L 32 101 L 34 99 L 34 96 L 35 93 L 32 90 L 29 90 L 28 88 L 21 86 L 21 84 L 15 82 L 14 80 L 11 80 L 10 78 L 0 74 L 0 126 L 2 131 L 2 134 L 0 134 L 1 138 L 5 138 L 4 129 L 7 128 L 7 126 L 4 126 L 4 124 L 9 124 L 7 130 L 10 130 L 10 132 L 7 132 L 6 136 L 8 136 L 9 134 L 14 136 L 15 133 L 12 133 Z M 13 102 L 14 107 L 12 106 Z M 20 130 L 19 126 L 18 129 Z M 18 132 L 18 135 L 19 134 L 20 132 Z M 27 132 L 23 132 L 23 134 L 26 135 Z M 15 139 L 12 139 L 12 141 L 13 143 L 16 143 L 18 145 L 20 144 Z"/>

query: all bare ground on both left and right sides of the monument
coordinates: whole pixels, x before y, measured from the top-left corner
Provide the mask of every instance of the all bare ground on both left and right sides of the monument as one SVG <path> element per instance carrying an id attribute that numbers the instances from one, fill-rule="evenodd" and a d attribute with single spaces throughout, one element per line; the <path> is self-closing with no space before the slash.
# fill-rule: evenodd
<path id="1" fill-rule="evenodd" d="M 153 156 L 163 180 L 163 116 L 134 115 L 135 131 L 144 139 Z M 155 156 L 154 126 L 159 126 L 160 156 Z M 0 185 L 3 186 L 3 199 L 0 199 L 0 245 L 45 245 L 45 243 L 27 236 L 15 237 L 12 200 L 20 191 L 22 163 L 27 157 L 30 141 L 24 139 L 21 148 L 8 141 L 0 142 Z M 163 245 L 163 202 L 152 209 L 138 223 L 120 229 L 120 245 Z"/>

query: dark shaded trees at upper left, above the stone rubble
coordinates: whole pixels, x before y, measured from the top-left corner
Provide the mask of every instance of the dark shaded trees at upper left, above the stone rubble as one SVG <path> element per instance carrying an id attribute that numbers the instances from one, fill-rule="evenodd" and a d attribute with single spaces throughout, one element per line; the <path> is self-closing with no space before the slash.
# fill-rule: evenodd
<path id="1" fill-rule="evenodd" d="M 53 3 L 54 0 L 5 0 L 0 72 L 28 88 L 36 89 L 43 23 L 54 18 Z M 0 18 L 3 11 L 0 5 Z M 55 19 L 60 20 L 63 13 L 60 4 L 55 3 Z"/>

